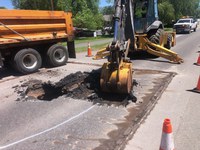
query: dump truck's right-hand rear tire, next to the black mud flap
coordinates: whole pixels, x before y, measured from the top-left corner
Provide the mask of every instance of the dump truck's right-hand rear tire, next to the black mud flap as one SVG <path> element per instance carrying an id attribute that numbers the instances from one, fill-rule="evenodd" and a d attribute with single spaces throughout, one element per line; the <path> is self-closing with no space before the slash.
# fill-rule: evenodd
<path id="1" fill-rule="evenodd" d="M 55 44 L 47 50 L 47 62 L 53 67 L 65 65 L 68 58 L 68 50 L 62 45 Z"/>

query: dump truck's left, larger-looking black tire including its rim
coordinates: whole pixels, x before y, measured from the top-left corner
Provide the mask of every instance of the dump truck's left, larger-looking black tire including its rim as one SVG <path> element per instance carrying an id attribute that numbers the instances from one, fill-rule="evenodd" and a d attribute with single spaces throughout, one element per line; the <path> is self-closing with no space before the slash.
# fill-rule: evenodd
<path id="1" fill-rule="evenodd" d="M 42 66 L 40 54 L 32 48 L 22 49 L 14 56 L 14 68 L 23 74 L 36 72 Z"/>

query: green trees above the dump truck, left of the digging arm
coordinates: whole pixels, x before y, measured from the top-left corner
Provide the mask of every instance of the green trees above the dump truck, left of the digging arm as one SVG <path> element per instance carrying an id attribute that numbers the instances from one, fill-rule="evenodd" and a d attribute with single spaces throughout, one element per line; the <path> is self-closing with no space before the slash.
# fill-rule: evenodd
<path id="1" fill-rule="evenodd" d="M 98 29 L 103 26 L 99 0 L 12 0 L 16 9 L 72 11 L 76 27 Z"/>

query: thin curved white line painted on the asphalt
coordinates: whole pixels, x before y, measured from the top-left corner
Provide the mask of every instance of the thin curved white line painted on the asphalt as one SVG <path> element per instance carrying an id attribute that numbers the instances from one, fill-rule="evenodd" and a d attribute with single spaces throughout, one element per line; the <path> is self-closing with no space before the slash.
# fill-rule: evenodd
<path id="1" fill-rule="evenodd" d="M 19 144 L 19 143 L 21 143 L 21 142 L 24 142 L 24 141 L 26 141 L 26 140 L 32 139 L 32 138 L 34 138 L 34 137 L 36 137 L 36 136 L 39 136 L 39 135 L 42 135 L 42 134 L 44 134 L 44 133 L 50 132 L 51 130 L 54 130 L 54 129 L 56 129 L 56 128 L 58 128 L 58 127 L 60 127 L 60 126 L 62 126 L 62 125 L 64 125 L 64 124 L 66 124 L 66 123 L 68 123 L 68 122 L 70 122 L 70 121 L 73 121 L 74 119 L 80 117 L 81 115 L 83 115 L 83 114 L 89 112 L 91 109 L 94 108 L 94 106 L 95 106 L 95 105 L 93 105 L 93 106 L 91 106 L 90 108 L 84 110 L 83 112 L 79 113 L 78 115 L 73 116 L 73 117 L 71 117 L 70 119 L 68 119 L 68 120 L 66 120 L 66 121 L 64 121 L 64 122 L 62 122 L 62 123 L 60 123 L 60 124 L 58 124 L 58 125 L 55 125 L 55 126 L 49 128 L 49 129 L 46 129 L 46 130 L 44 130 L 44 131 L 42 131 L 42 132 L 33 134 L 33 135 L 31 135 L 31 136 L 28 136 L 28 137 L 23 138 L 23 139 L 21 139 L 21 140 L 18 140 L 18 141 L 16 141 L 16 142 L 10 143 L 10 144 L 8 144 L 8 145 L 0 146 L 0 150 L 1 150 L 1 149 L 6 149 L 6 148 L 8 148 L 8 147 L 14 146 L 14 145 Z"/>

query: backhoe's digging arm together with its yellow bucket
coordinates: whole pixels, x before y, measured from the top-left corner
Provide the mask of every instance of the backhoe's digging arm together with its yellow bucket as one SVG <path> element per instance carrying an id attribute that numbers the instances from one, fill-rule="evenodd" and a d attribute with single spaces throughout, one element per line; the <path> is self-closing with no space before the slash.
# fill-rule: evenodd
<path id="1" fill-rule="evenodd" d="M 109 46 L 101 50 L 102 56 L 108 56 L 108 62 L 102 66 L 100 86 L 104 92 L 128 94 L 132 91 L 132 63 L 127 58 L 130 40 L 125 40 L 125 0 L 115 2 L 114 38 Z"/>

